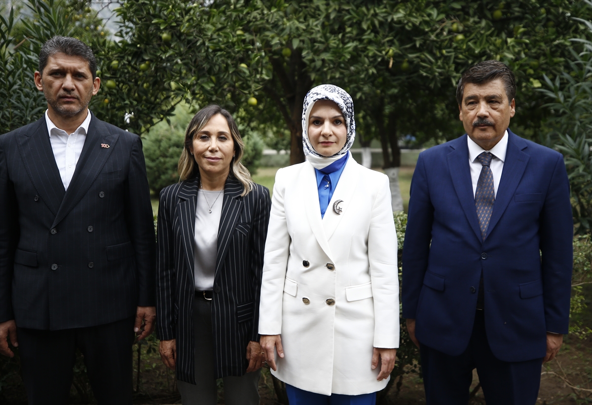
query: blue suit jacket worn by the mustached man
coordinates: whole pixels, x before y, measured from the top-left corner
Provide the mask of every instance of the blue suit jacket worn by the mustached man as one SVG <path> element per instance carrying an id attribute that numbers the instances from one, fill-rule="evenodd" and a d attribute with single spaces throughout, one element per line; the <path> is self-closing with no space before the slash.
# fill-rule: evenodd
<path id="1" fill-rule="evenodd" d="M 465 351 L 484 280 L 485 329 L 503 361 L 545 357 L 546 332 L 567 333 L 573 220 L 562 155 L 508 130 L 485 241 L 467 135 L 422 152 L 411 182 L 403 249 L 403 316 L 417 339 Z"/>

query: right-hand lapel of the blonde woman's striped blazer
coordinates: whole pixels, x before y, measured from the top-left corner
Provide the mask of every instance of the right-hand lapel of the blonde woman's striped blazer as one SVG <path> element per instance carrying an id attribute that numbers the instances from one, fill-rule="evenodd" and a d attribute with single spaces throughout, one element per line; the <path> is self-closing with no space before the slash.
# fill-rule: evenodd
<path id="1" fill-rule="evenodd" d="M 243 184 L 234 177 L 229 176 L 224 185 L 224 202 L 220 215 L 220 226 L 218 226 L 218 253 L 216 256 L 215 277 L 220 274 L 220 267 L 228 252 L 229 242 L 236 223 L 239 221 L 240 212 L 243 209 L 243 199 L 240 196 L 243 192 Z"/>

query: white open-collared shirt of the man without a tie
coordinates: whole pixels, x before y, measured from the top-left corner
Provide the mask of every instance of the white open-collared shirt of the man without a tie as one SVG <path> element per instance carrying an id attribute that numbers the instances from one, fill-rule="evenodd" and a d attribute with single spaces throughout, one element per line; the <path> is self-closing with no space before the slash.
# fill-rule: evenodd
<path id="1" fill-rule="evenodd" d="M 67 190 L 70 180 L 76 170 L 76 163 L 82 153 L 82 147 L 88 133 L 88 126 L 91 124 L 91 112 L 88 114 L 80 127 L 72 134 L 68 134 L 63 129 L 57 128 L 56 124 L 49 119 L 47 110 L 45 111 L 45 121 L 47 123 L 47 132 L 49 132 L 49 141 L 52 144 L 53 156 L 56 158 L 57 169 L 60 171 L 62 183 Z"/>

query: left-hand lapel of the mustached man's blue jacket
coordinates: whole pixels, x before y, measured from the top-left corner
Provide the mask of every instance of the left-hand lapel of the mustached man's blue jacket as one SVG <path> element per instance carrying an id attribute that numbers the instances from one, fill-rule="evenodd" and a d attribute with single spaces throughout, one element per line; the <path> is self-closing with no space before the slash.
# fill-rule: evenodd
<path id="1" fill-rule="evenodd" d="M 475 232 L 475 236 L 482 242 L 477 209 L 475 208 L 475 195 L 473 194 L 471 168 L 469 167 L 469 147 L 466 137 L 465 134 L 463 137 L 450 142 L 453 151 L 446 158 L 448 159 L 448 170 L 452 183 L 465 212 L 466 219 L 469 221 L 473 232 Z"/>

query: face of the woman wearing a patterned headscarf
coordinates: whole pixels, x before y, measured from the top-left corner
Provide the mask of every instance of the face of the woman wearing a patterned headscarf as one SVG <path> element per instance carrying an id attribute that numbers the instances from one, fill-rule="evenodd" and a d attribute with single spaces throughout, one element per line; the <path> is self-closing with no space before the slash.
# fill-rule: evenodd
<path id="1" fill-rule="evenodd" d="M 323 156 L 339 152 L 348 137 L 345 117 L 337 104 L 330 100 L 319 100 L 308 116 L 308 139 L 314 150 Z"/>

